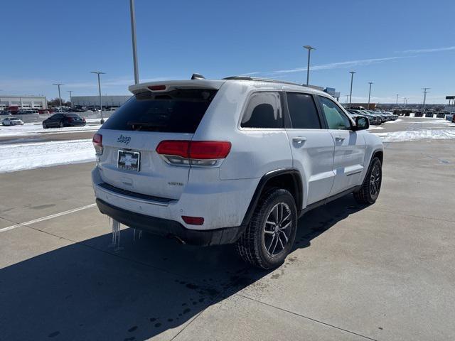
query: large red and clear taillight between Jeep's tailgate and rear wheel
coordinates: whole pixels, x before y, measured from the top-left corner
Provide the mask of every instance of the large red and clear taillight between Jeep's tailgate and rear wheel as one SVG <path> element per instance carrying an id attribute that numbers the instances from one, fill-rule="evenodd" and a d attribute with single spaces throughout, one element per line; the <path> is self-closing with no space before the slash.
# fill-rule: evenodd
<path id="1" fill-rule="evenodd" d="M 220 159 L 230 152 L 229 141 L 161 141 L 156 153 L 166 162 L 176 165 L 218 166 Z"/>

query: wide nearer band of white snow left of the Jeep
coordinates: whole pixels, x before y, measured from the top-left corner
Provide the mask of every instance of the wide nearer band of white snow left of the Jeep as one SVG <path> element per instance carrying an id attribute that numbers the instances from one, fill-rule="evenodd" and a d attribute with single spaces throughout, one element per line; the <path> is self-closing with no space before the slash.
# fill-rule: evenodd
<path id="1" fill-rule="evenodd" d="M 0 173 L 95 161 L 92 140 L 0 145 Z"/>

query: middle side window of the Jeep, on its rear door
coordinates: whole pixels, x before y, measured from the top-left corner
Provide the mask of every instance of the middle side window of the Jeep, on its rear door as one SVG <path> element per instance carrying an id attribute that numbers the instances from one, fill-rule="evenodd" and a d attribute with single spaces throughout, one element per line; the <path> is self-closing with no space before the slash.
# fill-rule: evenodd
<path id="1" fill-rule="evenodd" d="M 321 129 L 316 104 L 311 94 L 287 92 L 287 107 L 294 129 Z"/>

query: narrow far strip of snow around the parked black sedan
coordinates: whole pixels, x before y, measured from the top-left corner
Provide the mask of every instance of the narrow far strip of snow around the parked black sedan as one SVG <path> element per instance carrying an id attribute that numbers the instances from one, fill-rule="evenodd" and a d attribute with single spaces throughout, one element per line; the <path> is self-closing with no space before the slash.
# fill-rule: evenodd
<path id="1" fill-rule="evenodd" d="M 99 120 L 98 120 L 99 121 Z M 43 129 L 43 126 L 36 123 L 26 123 L 23 126 L 1 126 L 0 136 L 28 136 L 36 134 L 70 134 L 80 131 L 97 131 L 101 124 L 87 124 L 86 126 L 65 126 L 64 128 Z"/>

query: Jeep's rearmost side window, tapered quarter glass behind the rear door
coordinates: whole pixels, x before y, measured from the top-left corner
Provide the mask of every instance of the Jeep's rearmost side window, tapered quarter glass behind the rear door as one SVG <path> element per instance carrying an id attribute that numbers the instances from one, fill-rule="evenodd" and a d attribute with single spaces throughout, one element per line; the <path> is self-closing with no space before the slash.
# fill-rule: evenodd
<path id="1" fill-rule="evenodd" d="M 252 94 L 240 126 L 243 128 L 283 128 L 279 94 L 277 92 Z"/>

